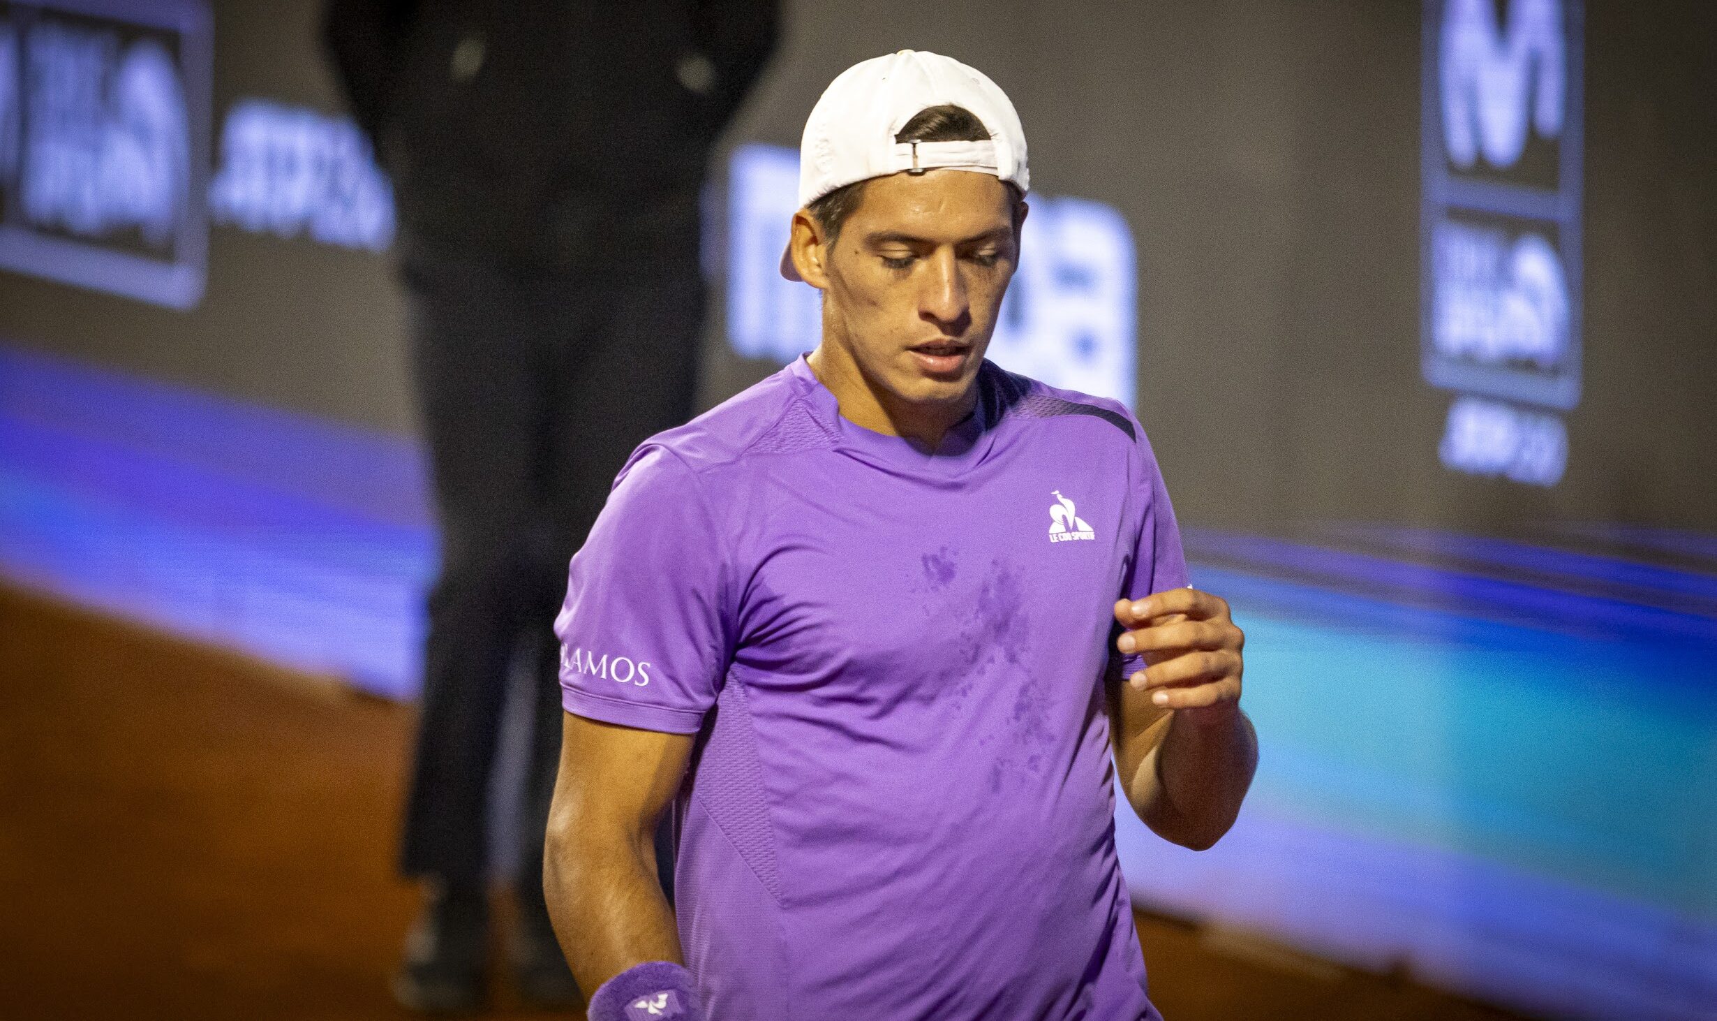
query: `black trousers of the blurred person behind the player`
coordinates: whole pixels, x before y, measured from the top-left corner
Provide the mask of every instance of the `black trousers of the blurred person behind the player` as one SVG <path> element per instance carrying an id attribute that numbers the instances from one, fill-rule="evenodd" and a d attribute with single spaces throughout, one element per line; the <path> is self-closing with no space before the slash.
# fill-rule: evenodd
<path id="1" fill-rule="evenodd" d="M 616 278 L 405 266 L 441 524 L 405 875 L 488 877 L 489 772 L 510 667 L 524 655 L 536 686 L 517 889 L 534 897 L 525 909 L 541 906 L 561 731 L 555 614 L 567 562 L 625 459 L 690 418 L 704 282 L 689 248 Z"/>

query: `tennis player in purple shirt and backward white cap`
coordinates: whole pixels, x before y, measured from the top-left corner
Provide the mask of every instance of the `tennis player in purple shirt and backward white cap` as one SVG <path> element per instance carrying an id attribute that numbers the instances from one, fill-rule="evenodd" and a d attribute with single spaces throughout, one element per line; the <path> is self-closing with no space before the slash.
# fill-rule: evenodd
<path id="1" fill-rule="evenodd" d="M 572 560 L 546 892 L 592 1021 L 1159 1018 L 1114 777 L 1229 828 L 1243 636 L 1138 421 L 984 361 L 1025 189 L 980 72 L 836 77 L 783 254 L 819 347 L 639 447 Z"/>

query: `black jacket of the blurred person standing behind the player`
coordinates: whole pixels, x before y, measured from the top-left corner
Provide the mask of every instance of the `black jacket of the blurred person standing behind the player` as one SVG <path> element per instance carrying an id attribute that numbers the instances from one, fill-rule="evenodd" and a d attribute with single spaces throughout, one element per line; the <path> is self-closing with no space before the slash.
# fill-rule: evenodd
<path id="1" fill-rule="evenodd" d="M 776 0 L 330 0 L 407 258 L 592 270 L 690 246 Z"/>

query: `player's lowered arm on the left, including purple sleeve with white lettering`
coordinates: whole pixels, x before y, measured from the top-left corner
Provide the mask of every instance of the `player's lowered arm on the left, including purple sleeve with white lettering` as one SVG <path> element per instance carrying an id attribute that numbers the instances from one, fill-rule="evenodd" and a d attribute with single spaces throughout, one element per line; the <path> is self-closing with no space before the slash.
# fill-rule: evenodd
<path id="1" fill-rule="evenodd" d="M 664 990 L 697 1018 L 654 834 L 731 662 L 730 533 L 690 466 L 646 443 L 567 576 L 543 894 L 592 1019 Z"/>

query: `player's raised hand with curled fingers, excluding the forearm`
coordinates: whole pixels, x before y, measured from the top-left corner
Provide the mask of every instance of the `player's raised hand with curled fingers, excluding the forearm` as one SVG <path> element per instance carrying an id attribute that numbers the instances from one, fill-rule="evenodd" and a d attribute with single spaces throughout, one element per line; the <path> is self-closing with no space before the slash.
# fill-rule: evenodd
<path id="1" fill-rule="evenodd" d="M 1240 712 L 1241 648 L 1247 636 L 1228 614 L 1228 600 L 1195 588 L 1171 588 L 1114 603 L 1125 629 L 1123 655 L 1140 653 L 1145 669 L 1126 679 L 1150 703 L 1195 724 L 1221 724 Z"/>

